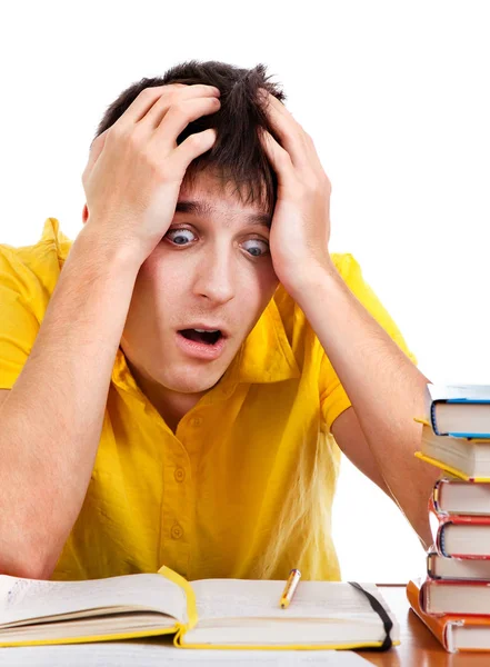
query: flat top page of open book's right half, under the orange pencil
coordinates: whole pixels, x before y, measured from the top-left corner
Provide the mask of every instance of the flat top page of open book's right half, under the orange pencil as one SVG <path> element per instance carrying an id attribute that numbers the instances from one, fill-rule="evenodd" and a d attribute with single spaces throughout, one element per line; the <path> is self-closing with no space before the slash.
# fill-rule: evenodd
<path id="1" fill-rule="evenodd" d="M 244 579 L 202 579 L 193 581 L 199 625 L 210 619 L 229 618 L 363 618 L 378 615 L 368 598 L 346 581 L 300 581 L 288 609 L 279 607 L 286 581 Z M 361 584 L 382 600 L 373 584 Z M 382 600 L 387 608 L 387 604 Z"/>

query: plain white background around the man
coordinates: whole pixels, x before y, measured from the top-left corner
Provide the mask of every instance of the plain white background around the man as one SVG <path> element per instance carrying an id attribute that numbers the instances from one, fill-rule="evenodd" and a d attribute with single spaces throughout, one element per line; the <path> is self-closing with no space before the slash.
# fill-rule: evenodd
<path id="1" fill-rule="evenodd" d="M 98 121 L 182 60 L 269 66 L 332 182 L 331 250 L 352 252 L 432 381 L 490 384 L 490 7 L 486 1 L 26 2 L 2 9 L 0 241 L 81 227 Z M 348 461 L 346 579 L 404 581 L 423 551 Z"/>

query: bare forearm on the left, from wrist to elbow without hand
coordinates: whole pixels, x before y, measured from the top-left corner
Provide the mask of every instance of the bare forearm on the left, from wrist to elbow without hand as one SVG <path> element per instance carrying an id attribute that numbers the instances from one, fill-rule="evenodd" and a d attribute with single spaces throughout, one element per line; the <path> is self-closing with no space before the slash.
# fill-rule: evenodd
<path id="1" fill-rule="evenodd" d="M 49 576 L 93 468 L 138 272 L 86 227 L 0 408 L 0 571 Z"/>

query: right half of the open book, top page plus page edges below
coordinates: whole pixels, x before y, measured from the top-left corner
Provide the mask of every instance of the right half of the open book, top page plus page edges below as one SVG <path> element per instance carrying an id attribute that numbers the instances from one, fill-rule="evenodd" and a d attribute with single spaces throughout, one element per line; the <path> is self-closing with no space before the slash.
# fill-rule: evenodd
<path id="1" fill-rule="evenodd" d="M 348 583 L 300 581 L 287 609 L 284 581 L 208 579 L 193 581 L 199 621 L 182 646 L 298 646 L 349 648 L 382 643 L 384 626 L 368 598 Z M 382 600 L 374 585 L 363 585 Z M 381 604 L 387 608 L 384 600 Z M 392 641 L 399 626 L 391 615 Z"/>

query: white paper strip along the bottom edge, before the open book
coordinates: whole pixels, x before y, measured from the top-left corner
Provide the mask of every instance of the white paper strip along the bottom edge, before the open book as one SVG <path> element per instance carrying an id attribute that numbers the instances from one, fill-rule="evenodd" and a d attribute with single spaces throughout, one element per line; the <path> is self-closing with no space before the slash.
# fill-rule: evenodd
<path id="1" fill-rule="evenodd" d="M 254 665 L 254 667 L 368 667 L 370 663 L 343 650 L 199 650 L 172 646 L 109 641 L 79 646 L 37 646 L 2 648 L 9 667 L 213 667 Z"/>

